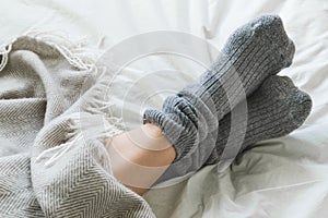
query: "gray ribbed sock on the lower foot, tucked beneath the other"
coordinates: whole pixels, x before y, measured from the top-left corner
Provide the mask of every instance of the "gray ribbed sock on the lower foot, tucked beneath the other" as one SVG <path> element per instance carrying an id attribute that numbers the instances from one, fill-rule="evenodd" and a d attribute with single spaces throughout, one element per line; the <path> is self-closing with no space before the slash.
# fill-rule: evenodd
<path id="1" fill-rule="evenodd" d="M 288 135 L 308 117 L 312 100 L 306 93 L 297 89 L 289 77 L 276 75 L 267 78 L 260 88 L 247 98 L 247 105 L 248 118 L 235 118 L 235 123 L 247 122 L 246 134 L 241 134 L 243 131 L 238 131 L 238 126 L 232 132 L 231 113 L 226 114 L 220 121 L 215 148 L 204 166 L 223 160 L 223 150 L 224 159 L 234 158 L 236 149 L 242 152 L 259 141 Z"/>

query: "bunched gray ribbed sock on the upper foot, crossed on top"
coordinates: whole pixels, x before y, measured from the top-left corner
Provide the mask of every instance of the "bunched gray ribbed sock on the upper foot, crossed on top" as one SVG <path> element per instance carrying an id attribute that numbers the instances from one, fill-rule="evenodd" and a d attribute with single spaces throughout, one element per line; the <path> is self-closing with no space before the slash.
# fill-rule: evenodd
<path id="1" fill-rule="evenodd" d="M 163 111 L 147 110 L 144 122 L 159 125 L 174 145 L 174 166 L 181 173 L 195 171 L 214 148 L 219 120 L 245 99 L 243 94 L 250 95 L 265 78 L 289 66 L 293 55 L 281 19 L 260 16 L 232 34 L 198 84 L 168 97 Z"/>

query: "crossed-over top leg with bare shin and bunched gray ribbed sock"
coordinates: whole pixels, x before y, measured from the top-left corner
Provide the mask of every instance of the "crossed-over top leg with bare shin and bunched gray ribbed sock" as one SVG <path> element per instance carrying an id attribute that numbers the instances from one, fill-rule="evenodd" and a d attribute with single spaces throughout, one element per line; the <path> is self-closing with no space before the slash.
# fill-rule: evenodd
<path id="1" fill-rule="evenodd" d="M 180 171 L 177 174 L 200 169 L 215 148 L 219 120 L 243 100 L 243 90 L 250 96 L 267 77 L 289 66 L 293 55 L 293 43 L 278 16 L 262 16 L 238 28 L 199 83 L 167 98 L 163 111 L 144 112 L 145 123 L 161 131 L 144 125 L 109 141 L 115 177 L 127 186 L 148 189 L 171 162 L 168 169 Z"/>

